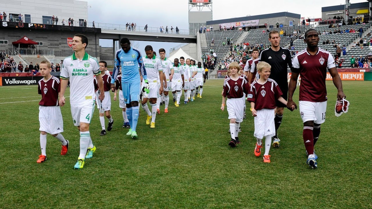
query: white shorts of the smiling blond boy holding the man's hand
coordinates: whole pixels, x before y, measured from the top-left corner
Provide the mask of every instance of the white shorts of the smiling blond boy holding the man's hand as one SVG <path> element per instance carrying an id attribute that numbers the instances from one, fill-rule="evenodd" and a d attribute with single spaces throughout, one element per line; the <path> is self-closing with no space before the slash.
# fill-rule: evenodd
<path id="1" fill-rule="evenodd" d="M 275 136 L 275 109 L 257 110 L 257 116 L 254 117 L 253 136 L 263 139 L 266 136 Z"/>

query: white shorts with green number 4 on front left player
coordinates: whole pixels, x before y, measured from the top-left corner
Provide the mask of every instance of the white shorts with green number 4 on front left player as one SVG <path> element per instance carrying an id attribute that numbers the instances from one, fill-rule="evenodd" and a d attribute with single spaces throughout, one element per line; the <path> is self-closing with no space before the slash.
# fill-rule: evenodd
<path id="1" fill-rule="evenodd" d="M 74 126 L 80 126 L 80 123 L 90 123 L 94 113 L 96 102 L 87 102 L 79 105 L 71 105 L 71 115 Z"/>

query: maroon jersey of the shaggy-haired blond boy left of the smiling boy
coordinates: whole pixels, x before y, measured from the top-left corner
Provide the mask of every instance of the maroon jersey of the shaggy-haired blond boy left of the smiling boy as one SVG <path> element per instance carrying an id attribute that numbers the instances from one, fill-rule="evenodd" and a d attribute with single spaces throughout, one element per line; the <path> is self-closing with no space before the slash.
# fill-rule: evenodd
<path id="1" fill-rule="evenodd" d="M 243 93 L 248 92 L 247 81 L 243 77 L 238 77 L 238 80 L 234 81 L 231 77 L 228 77 L 224 81 L 224 90 L 222 95 L 232 99 L 241 98 Z"/>

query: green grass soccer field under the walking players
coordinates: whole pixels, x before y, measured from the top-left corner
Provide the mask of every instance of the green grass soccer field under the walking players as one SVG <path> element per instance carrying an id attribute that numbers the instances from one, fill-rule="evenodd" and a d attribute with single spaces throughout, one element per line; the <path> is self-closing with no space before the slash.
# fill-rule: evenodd
<path id="1" fill-rule="evenodd" d="M 285 110 L 281 147 L 270 149 L 271 163 L 253 154 L 249 108 L 241 144 L 230 148 L 228 114 L 219 109 L 222 83 L 207 81 L 202 99 L 178 108 L 170 99 L 169 113 L 160 106 L 155 129 L 145 124 L 140 108 L 137 140 L 125 135 L 111 93 L 114 127 L 100 136 L 99 111 L 94 112 L 90 135 L 97 151 L 80 170 L 73 169 L 79 132 L 68 98 L 61 107 L 68 153 L 61 156 L 60 141 L 48 135 L 48 159 L 37 164 L 37 86 L 0 87 L 0 208 L 372 208 L 372 82 L 343 81 L 350 107 L 337 118 L 337 90 L 327 81 L 315 170 L 305 164 L 299 110 Z M 299 87 L 297 104 L 298 92 Z"/>

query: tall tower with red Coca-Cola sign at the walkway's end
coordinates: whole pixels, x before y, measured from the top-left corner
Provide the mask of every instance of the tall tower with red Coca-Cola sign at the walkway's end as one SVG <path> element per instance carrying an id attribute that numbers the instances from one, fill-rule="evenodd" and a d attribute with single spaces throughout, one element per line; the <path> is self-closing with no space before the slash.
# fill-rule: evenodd
<path id="1" fill-rule="evenodd" d="M 190 34 L 198 31 L 212 20 L 212 0 L 187 0 L 189 3 L 189 30 Z"/>

